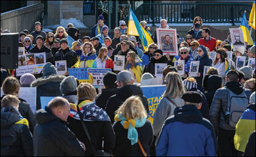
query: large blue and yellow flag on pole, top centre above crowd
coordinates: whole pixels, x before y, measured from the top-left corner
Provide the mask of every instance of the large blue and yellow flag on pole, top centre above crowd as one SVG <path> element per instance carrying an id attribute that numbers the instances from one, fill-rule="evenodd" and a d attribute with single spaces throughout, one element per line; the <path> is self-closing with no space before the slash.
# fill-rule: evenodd
<path id="1" fill-rule="evenodd" d="M 145 29 L 143 29 L 143 27 L 140 25 L 140 22 L 136 18 L 131 7 L 129 9 L 129 21 L 128 21 L 127 34 L 134 35 L 134 36 L 140 36 L 140 40 L 141 40 L 144 50 L 147 49 L 148 45 L 153 43 L 151 35 L 148 34 L 148 32 Z"/>

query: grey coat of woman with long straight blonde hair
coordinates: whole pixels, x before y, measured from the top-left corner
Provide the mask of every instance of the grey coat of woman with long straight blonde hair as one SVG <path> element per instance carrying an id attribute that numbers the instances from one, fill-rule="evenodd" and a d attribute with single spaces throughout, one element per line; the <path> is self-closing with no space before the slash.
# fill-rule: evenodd
<path id="1" fill-rule="evenodd" d="M 184 105 L 184 100 L 180 96 L 178 96 L 177 98 L 171 98 L 171 95 L 168 95 L 168 98 L 174 101 L 174 103 L 178 107 Z M 155 136 L 159 136 L 164 121 L 170 116 L 174 115 L 174 109 L 176 108 L 175 104 L 170 102 L 170 100 L 168 100 L 166 96 L 163 96 L 160 100 L 155 110 L 155 115 L 153 119 L 153 130 Z"/>

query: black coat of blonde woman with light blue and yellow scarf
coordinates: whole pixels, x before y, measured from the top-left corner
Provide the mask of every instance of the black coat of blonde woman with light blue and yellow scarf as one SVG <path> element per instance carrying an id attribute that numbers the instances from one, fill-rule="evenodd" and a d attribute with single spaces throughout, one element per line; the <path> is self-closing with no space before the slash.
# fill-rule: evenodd
<path id="1" fill-rule="evenodd" d="M 114 156 L 143 156 L 139 144 L 131 145 L 131 140 L 127 138 L 128 130 L 123 127 L 120 122 L 113 125 L 116 134 L 116 147 L 113 151 Z M 149 155 L 149 147 L 153 142 L 153 128 L 149 120 L 146 120 L 144 126 L 136 127 L 138 138 L 147 155 Z"/>

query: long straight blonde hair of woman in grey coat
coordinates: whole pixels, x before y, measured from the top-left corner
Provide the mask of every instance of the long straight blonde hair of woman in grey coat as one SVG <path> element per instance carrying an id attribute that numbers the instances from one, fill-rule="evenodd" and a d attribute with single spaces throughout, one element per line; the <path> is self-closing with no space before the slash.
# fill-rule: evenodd
<path id="1" fill-rule="evenodd" d="M 181 96 L 184 90 L 184 84 L 180 75 L 176 72 L 170 72 L 166 75 L 166 91 L 162 96 L 169 96 L 171 98 L 177 98 L 179 95 Z"/>

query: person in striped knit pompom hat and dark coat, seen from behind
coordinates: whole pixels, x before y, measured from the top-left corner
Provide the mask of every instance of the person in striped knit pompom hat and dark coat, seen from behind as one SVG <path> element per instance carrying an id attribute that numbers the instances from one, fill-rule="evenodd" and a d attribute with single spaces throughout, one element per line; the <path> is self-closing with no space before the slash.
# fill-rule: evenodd
<path id="1" fill-rule="evenodd" d="M 183 83 L 184 83 L 184 87 L 186 88 L 186 91 L 196 91 L 200 95 L 202 95 L 203 101 L 202 101 L 202 106 L 199 108 L 199 111 L 201 112 L 203 118 L 210 120 L 209 107 L 206 100 L 206 96 L 203 94 L 203 92 L 198 90 L 195 78 L 187 77 L 186 79 L 183 80 Z"/>

